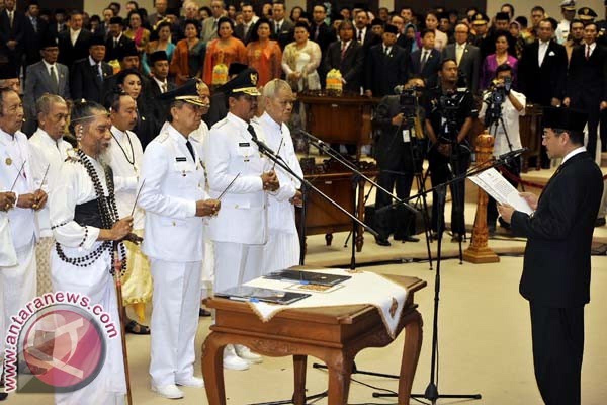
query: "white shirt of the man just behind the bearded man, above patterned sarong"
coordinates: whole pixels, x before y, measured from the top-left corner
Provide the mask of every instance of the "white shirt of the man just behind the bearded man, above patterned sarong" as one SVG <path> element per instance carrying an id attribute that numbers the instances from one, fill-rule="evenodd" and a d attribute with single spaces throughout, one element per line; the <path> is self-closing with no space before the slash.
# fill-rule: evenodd
<path id="1" fill-rule="evenodd" d="M 46 174 L 46 179 L 42 183 L 41 188 L 44 192 L 49 194 L 53 186 L 61 180 L 59 177 L 59 170 L 64 160 L 67 158 L 68 151 L 72 149 L 72 145 L 69 142 L 64 141 L 63 138 L 55 141 L 50 135 L 42 128 L 38 128 L 29 140 L 32 152 L 38 155 L 38 158 L 33 163 L 35 170 L 36 179 L 40 179 L 42 182 L 44 179 L 44 172 L 49 171 Z M 47 200 L 48 201 L 48 200 Z M 40 236 L 50 237 L 53 236 L 53 232 L 50 230 L 49 222 L 49 204 L 40 209 L 37 213 L 38 226 L 40 228 Z"/>

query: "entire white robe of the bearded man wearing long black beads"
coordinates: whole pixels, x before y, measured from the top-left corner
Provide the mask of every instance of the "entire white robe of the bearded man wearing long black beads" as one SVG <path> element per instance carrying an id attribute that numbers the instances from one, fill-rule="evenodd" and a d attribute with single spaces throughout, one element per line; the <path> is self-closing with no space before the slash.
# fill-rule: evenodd
<path id="1" fill-rule="evenodd" d="M 103 167 L 97 160 L 90 157 L 89 160 L 97 172 L 104 196 L 109 196 Z M 103 242 L 97 240 L 99 228 L 81 226 L 73 220 L 75 207 L 97 199 L 97 194 L 89 174 L 79 162 L 63 163 L 59 179 L 61 181 L 52 186 L 49 197 L 53 236 L 67 257 L 84 257 L 97 250 Z M 52 249 L 50 254 L 50 270 L 55 291 L 72 291 L 89 296 L 90 302 L 103 306 L 118 327 L 120 318 L 114 281 L 110 274 L 111 266 L 112 256 L 108 250 L 87 267 L 76 267 L 64 262 L 59 258 L 56 249 Z M 97 377 L 87 386 L 74 392 L 55 393 L 56 404 L 80 405 L 91 401 L 103 405 L 124 403 L 126 380 L 122 342 L 120 337 L 110 339 L 107 335 L 104 336 L 107 344 L 106 361 Z"/>

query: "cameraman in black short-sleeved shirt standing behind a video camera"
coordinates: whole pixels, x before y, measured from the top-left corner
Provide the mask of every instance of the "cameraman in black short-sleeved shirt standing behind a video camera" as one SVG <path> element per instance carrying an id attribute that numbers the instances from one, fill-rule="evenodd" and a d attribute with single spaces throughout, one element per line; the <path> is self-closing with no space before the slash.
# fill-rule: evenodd
<path id="1" fill-rule="evenodd" d="M 470 146 L 466 139 L 476 110 L 472 94 L 458 87 L 458 66 L 454 59 L 441 61 L 439 84 L 430 89 L 422 106 L 426 109 L 426 134 L 430 140 L 428 163 L 432 186 L 439 185 L 466 171 L 470 165 Z M 464 224 L 464 182 L 451 185 L 452 241 L 458 241 L 466 231 Z M 438 230 L 438 196 L 433 193 L 432 230 Z M 459 211 L 458 211 L 459 208 Z M 444 216 L 441 229 L 444 230 Z"/>

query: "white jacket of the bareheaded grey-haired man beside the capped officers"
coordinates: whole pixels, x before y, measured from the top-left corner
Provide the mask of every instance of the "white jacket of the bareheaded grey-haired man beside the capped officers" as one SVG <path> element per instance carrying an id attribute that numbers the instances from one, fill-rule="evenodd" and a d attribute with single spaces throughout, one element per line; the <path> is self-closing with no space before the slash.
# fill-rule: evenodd
<path id="1" fill-rule="evenodd" d="M 253 121 L 256 132 L 263 133 L 266 145 L 277 152 L 287 162 L 287 165 L 300 177 L 304 177 L 302 168 L 297 160 L 291 132 L 286 124 L 279 124 L 270 115 L 264 113 L 260 118 Z M 260 128 L 258 131 L 257 128 Z M 280 146 L 282 143 L 282 146 Z M 271 166 L 270 166 L 271 167 Z M 295 208 L 289 201 L 300 188 L 299 180 L 288 173 L 285 169 L 276 165 L 274 168 L 280 182 L 277 192 L 270 192 L 268 197 L 268 230 L 287 233 L 297 233 L 295 226 Z"/>

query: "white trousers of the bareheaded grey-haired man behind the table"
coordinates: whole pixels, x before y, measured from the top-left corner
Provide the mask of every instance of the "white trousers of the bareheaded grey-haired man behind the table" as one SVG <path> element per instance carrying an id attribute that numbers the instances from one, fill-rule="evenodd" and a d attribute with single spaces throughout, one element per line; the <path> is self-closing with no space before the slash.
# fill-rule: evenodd
<path id="1" fill-rule="evenodd" d="M 297 233 L 270 230 L 268 232 L 268 243 L 263 247 L 263 274 L 298 265 L 299 252 Z"/>

